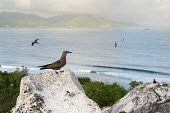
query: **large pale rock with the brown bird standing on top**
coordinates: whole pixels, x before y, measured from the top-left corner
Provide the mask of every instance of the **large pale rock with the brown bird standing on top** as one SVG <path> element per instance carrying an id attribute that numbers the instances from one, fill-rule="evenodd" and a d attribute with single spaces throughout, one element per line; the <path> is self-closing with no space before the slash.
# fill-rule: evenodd
<path id="1" fill-rule="evenodd" d="M 11 113 L 101 113 L 73 72 L 45 72 L 24 77 Z"/>

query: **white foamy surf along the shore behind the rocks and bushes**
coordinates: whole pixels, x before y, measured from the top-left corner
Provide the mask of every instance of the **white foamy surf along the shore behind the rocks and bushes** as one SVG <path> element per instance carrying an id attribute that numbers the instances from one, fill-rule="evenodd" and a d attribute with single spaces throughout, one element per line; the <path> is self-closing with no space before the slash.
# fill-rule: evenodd
<path id="1" fill-rule="evenodd" d="M 22 68 L 22 67 L 15 67 L 15 66 L 4 66 L 2 65 L 0 68 L 0 71 L 7 71 L 7 72 L 14 72 L 16 68 Z M 28 75 L 31 74 L 38 74 L 43 72 L 54 72 L 53 70 L 47 69 L 47 70 L 39 70 L 39 68 L 29 68 Z M 65 68 L 63 68 L 65 69 Z M 89 77 L 92 79 L 92 81 L 101 81 L 106 84 L 112 84 L 114 82 L 117 82 L 121 86 L 123 86 L 125 89 L 129 89 L 129 83 L 132 81 L 142 81 L 144 83 L 146 82 L 152 82 L 152 77 L 144 77 L 144 76 L 133 76 L 127 74 L 118 74 L 113 72 L 95 72 L 93 70 L 87 70 L 87 69 L 76 69 L 76 68 L 70 68 L 71 71 L 73 71 L 76 76 L 78 77 Z M 166 77 L 166 76 L 165 76 Z M 169 76 L 167 76 L 169 77 Z M 134 79 L 133 79 L 134 78 Z M 159 76 L 155 77 L 157 81 L 161 82 L 170 82 L 170 79 L 167 78 L 160 78 Z"/>

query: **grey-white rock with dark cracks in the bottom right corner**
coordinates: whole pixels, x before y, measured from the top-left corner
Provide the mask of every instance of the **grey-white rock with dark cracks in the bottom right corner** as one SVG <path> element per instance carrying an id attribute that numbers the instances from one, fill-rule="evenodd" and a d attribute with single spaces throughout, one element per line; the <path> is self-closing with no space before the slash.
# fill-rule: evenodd
<path id="1" fill-rule="evenodd" d="M 110 109 L 110 113 L 121 111 L 127 113 L 170 113 L 170 84 L 141 84 Z"/>

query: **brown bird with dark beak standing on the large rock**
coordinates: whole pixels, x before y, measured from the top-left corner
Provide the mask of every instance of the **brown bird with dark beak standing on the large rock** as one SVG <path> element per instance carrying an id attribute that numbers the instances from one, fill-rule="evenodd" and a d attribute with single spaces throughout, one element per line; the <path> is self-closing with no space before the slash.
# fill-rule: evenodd
<path id="1" fill-rule="evenodd" d="M 63 54 L 61 55 L 60 60 L 58 60 L 58 61 L 56 61 L 54 63 L 51 63 L 51 64 L 42 65 L 42 66 L 38 66 L 38 67 L 41 67 L 40 70 L 43 70 L 43 69 L 53 69 L 56 72 L 56 70 L 60 70 L 63 66 L 66 65 L 66 55 L 67 55 L 67 53 L 72 53 L 72 52 L 70 52 L 70 51 L 63 51 Z"/>

